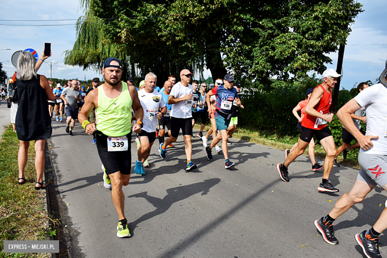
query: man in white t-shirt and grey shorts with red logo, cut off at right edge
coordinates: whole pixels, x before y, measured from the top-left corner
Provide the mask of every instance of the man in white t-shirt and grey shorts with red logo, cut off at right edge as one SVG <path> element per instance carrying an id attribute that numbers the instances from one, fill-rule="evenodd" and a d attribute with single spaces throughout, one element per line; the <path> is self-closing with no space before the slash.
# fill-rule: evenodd
<path id="1" fill-rule="evenodd" d="M 328 215 L 315 221 L 316 228 L 322 233 L 325 242 L 338 244 L 333 235 L 333 221 L 361 202 L 376 185 L 387 190 L 387 69 L 382 73 L 381 82 L 364 89 L 351 99 L 338 112 L 341 124 L 357 139 L 360 144 L 359 164 L 361 169 L 356 182 L 348 194 L 343 194 Z M 355 126 L 351 114 L 365 107 L 367 131 L 363 135 Z M 381 257 L 379 252 L 379 235 L 387 229 L 387 208 L 378 221 L 369 230 L 356 234 L 355 239 L 367 257 Z"/>

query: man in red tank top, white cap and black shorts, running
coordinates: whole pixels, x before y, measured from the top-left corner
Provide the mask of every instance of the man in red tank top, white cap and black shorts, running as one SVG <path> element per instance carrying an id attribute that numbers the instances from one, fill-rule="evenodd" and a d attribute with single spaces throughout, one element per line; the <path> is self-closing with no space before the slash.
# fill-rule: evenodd
<path id="1" fill-rule="evenodd" d="M 335 189 L 328 181 L 330 170 L 333 167 L 336 147 L 327 123 L 330 123 L 333 119 L 333 114 L 329 113 L 332 103 L 332 89 L 340 76 L 342 75 L 338 74 L 334 69 L 326 69 L 323 72 L 323 83 L 313 90 L 305 109 L 306 115 L 302 120 L 302 129 L 298 138 L 297 148 L 288 154 L 284 163 L 277 164 L 277 170 L 282 181 L 289 182 L 289 164 L 298 156 L 304 154 L 309 142 L 313 139 L 313 135 L 316 135 L 316 138 L 321 142 L 326 152 L 323 182 L 317 190 L 331 193 L 338 192 L 338 189 Z"/>

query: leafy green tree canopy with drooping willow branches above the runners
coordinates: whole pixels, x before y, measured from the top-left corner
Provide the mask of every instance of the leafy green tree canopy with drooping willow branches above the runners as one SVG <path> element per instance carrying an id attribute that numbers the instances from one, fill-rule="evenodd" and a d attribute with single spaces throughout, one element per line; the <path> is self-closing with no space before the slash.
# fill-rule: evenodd
<path id="1" fill-rule="evenodd" d="M 355 0 L 82 0 L 77 40 L 65 63 L 100 68 L 109 55 L 126 72 L 165 78 L 182 68 L 235 74 L 266 87 L 321 73 L 345 44 Z M 117 19 L 111 19 L 117 17 Z M 99 22 L 98 22 L 99 21 Z M 103 22 L 103 23 L 102 23 Z M 270 89 L 270 87 L 268 87 Z"/>

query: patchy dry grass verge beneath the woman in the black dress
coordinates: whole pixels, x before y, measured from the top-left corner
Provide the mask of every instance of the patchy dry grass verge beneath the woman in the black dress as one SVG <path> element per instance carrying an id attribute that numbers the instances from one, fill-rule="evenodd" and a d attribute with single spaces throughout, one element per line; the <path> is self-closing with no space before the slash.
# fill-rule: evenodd
<path id="1" fill-rule="evenodd" d="M 17 182 L 19 142 L 12 127 L 6 127 L 0 140 L 0 239 L 48 240 L 50 232 L 47 228 L 50 217 L 45 208 L 46 192 L 35 191 L 35 142 L 30 142 L 24 185 Z M 48 258 L 51 254 L 4 254 L 1 243 L 0 257 Z"/>

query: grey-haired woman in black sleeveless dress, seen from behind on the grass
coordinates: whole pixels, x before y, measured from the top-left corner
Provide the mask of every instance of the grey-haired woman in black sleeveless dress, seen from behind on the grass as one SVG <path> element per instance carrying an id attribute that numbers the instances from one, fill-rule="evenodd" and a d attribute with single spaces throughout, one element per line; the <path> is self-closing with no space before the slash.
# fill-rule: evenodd
<path id="1" fill-rule="evenodd" d="M 35 189 L 45 189 L 44 146 L 46 139 L 51 136 L 51 118 L 47 100 L 53 100 L 54 94 L 46 76 L 35 71 L 35 57 L 27 51 L 20 53 L 17 60 L 17 94 L 19 108 L 16 113 L 16 133 L 20 140 L 18 153 L 19 184 L 24 183 L 24 169 L 28 159 L 28 147 L 31 140 L 35 140 L 35 168 L 37 180 Z M 20 181 L 23 182 L 20 182 Z"/>

